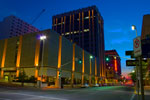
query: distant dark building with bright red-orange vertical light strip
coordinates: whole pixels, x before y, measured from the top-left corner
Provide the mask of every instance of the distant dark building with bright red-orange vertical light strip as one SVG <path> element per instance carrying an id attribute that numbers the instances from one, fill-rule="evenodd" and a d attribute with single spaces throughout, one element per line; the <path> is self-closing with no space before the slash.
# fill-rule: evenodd
<path id="1" fill-rule="evenodd" d="M 105 51 L 106 77 L 108 79 L 121 76 L 121 59 L 116 50 Z"/>

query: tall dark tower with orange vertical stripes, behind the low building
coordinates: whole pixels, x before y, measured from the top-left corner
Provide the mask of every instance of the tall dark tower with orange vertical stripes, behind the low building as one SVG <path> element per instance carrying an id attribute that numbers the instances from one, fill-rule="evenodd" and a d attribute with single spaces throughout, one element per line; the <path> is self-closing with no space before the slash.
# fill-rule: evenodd
<path id="1" fill-rule="evenodd" d="M 98 75 L 105 77 L 104 21 L 96 6 L 53 16 L 53 30 L 73 41 L 98 60 Z"/>

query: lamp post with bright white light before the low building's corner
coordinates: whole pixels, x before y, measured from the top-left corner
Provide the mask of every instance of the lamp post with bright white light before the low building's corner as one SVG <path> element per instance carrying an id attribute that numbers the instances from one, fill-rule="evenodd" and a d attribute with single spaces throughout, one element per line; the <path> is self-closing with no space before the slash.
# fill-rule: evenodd
<path id="1" fill-rule="evenodd" d="M 44 58 L 44 41 L 46 40 L 46 35 L 41 35 L 40 40 L 43 42 L 42 47 L 42 62 L 41 62 L 41 81 L 40 81 L 40 87 L 42 87 L 42 80 L 43 80 L 43 58 Z"/>

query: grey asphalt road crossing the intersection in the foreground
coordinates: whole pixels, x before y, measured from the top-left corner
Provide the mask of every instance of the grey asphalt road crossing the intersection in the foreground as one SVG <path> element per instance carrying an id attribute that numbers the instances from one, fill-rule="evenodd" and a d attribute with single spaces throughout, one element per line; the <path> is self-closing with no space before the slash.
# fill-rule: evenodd
<path id="1" fill-rule="evenodd" d="M 81 89 L 0 87 L 0 100 L 137 100 L 133 88 L 124 86 Z M 146 99 L 150 100 L 150 94 Z"/>

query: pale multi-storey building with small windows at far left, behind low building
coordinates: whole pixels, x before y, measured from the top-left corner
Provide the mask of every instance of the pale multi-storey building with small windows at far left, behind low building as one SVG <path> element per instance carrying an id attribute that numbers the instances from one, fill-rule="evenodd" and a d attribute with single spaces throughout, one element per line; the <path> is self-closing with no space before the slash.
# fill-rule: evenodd
<path id="1" fill-rule="evenodd" d="M 0 22 L 0 39 L 38 31 L 34 26 L 13 15 L 5 17 Z"/>

